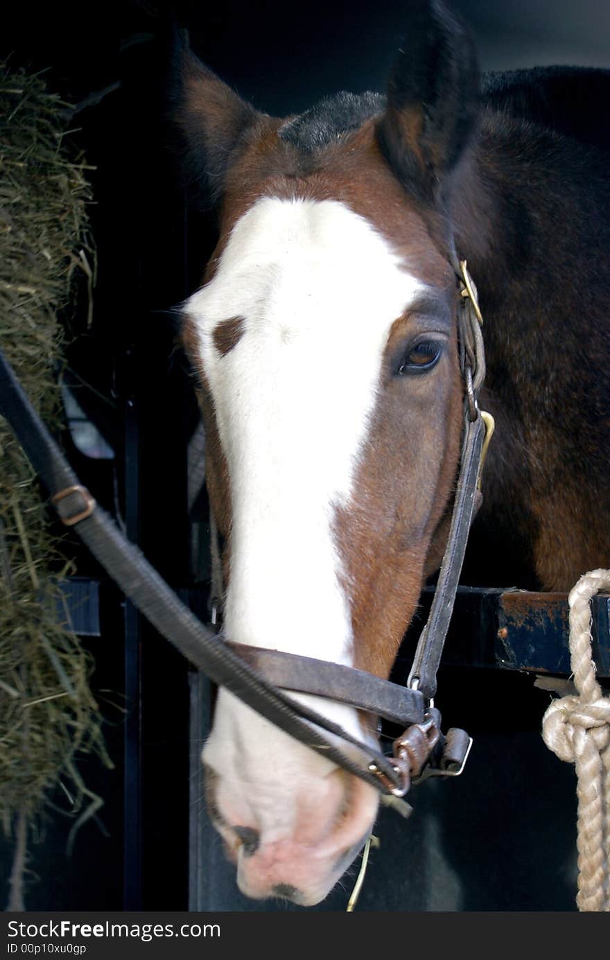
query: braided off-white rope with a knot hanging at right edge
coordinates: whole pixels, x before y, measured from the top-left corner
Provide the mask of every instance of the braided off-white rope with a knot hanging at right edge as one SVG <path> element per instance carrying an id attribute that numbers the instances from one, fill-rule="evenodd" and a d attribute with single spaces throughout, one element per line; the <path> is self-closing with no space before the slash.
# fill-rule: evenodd
<path id="1" fill-rule="evenodd" d="M 543 717 L 545 743 L 575 764 L 578 893 L 582 911 L 610 911 L 610 697 L 596 680 L 591 598 L 610 590 L 610 570 L 591 570 L 570 593 L 570 653 L 577 696 L 554 700 Z"/>

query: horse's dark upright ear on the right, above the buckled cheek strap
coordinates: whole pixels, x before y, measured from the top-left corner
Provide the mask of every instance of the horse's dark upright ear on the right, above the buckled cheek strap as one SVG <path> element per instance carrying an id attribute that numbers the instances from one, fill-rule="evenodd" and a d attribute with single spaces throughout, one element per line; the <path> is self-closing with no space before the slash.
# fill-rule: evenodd
<path id="1" fill-rule="evenodd" d="M 410 193 L 434 203 L 476 125 L 476 49 L 442 0 L 416 0 L 378 125 L 381 149 Z"/>

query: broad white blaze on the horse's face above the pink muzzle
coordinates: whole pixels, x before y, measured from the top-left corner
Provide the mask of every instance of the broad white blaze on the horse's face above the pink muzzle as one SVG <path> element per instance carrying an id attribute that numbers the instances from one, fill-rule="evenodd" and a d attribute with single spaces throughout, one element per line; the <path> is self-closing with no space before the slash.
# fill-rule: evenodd
<path id="1" fill-rule="evenodd" d="M 233 640 L 352 662 L 332 519 L 352 492 L 389 329 L 421 288 L 345 204 L 266 198 L 186 303 L 231 478 Z M 212 333 L 232 317 L 243 334 L 222 356 Z M 315 706 L 358 731 L 354 710 Z"/>

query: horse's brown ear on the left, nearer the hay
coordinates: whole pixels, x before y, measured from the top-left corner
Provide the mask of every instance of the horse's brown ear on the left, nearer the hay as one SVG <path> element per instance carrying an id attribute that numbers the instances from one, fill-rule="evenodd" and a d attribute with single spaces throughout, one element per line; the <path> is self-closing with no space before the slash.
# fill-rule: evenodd
<path id="1" fill-rule="evenodd" d="M 203 204 L 222 195 L 232 156 L 259 115 L 172 32 L 168 108 L 178 136 L 183 180 Z"/>

